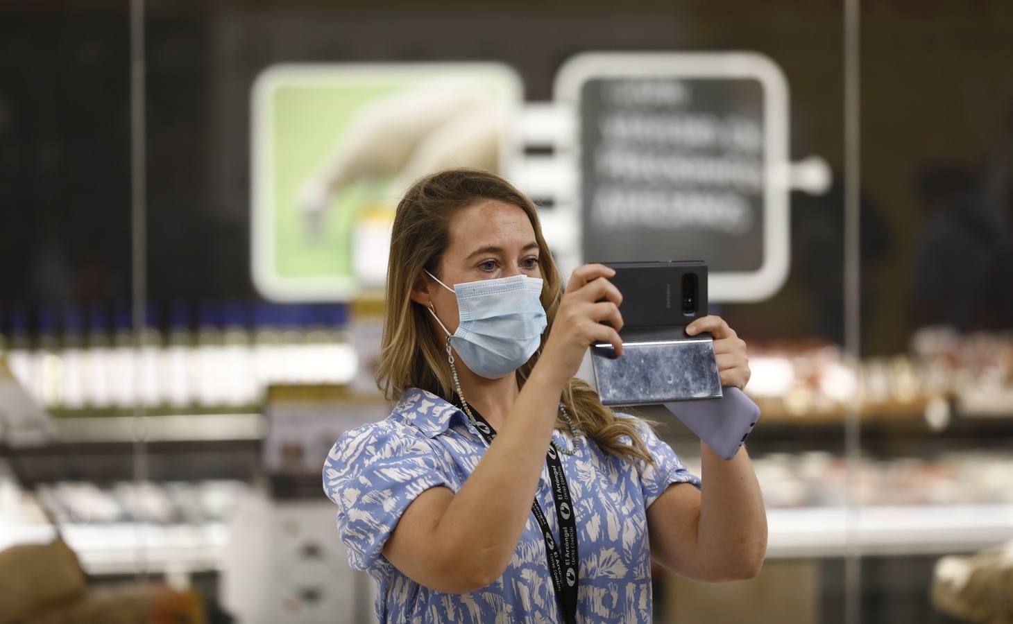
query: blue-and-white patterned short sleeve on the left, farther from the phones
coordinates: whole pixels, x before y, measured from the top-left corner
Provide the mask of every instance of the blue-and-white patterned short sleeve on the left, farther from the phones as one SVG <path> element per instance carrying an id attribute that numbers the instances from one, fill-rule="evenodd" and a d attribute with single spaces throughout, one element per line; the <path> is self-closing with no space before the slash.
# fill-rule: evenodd
<path id="1" fill-rule="evenodd" d="M 341 435 L 324 462 L 323 489 L 337 504 L 348 565 L 373 567 L 411 501 L 449 483 L 443 462 L 409 424 L 388 418 Z"/>

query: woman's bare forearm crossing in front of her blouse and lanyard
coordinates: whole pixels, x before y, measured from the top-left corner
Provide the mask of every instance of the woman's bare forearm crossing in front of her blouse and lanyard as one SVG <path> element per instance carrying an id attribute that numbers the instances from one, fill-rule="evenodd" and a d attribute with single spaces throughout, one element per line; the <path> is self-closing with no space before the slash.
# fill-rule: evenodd
<path id="1" fill-rule="evenodd" d="M 437 526 L 438 540 L 451 550 L 468 545 L 467 560 L 482 562 L 480 575 L 488 575 L 488 582 L 510 563 L 528 521 L 561 394 L 559 380 L 539 374 L 537 367 L 532 371 L 505 423 Z"/>

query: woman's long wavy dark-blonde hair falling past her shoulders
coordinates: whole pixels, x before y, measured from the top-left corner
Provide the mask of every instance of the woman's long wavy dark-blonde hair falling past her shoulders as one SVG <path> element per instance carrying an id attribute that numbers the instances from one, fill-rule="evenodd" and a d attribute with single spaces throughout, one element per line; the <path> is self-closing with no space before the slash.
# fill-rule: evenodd
<path id="1" fill-rule="evenodd" d="M 448 401 L 453 399 L 445 341 L 433 331 L 425 309 L 411 300 L 410 293 L 423 268 L 440 275 L 440 261 L 450 243 L 450 223 L 454 215 L 488 200 L 517 206 L 528 215 L 535 230 L 544 281 L 542 306 L 548 317 L 547 330 L 542 334 L 542 346 L 545 346 L 562 299 L 562 284 L 542 236 L 535 205 L 513 184 L 488 171 L 462 168 L 427 175 L 408 188 L 394 216 L 387 268 L 386 316 L 376 375 L 377 385 L 388 400 L 399 400 L 409 388 L 428 390 Z M 540 353 L 541 349 L 518 369 L 519 386 L 524 387 Z M 634 421 L 616 417 L 583 381 L 570 379 L 563 390 L 562 403 L 574 424 L 602 450 L 623 459 L 639 458 L 653 463 Z M 558 416 L 556 428 L 567 428 Z"/>

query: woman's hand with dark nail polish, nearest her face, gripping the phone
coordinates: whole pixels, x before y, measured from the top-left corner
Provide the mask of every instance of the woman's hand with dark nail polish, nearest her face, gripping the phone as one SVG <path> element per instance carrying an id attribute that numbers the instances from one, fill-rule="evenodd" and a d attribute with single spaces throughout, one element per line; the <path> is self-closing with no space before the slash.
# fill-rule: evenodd
<path id="1" fill-rule="evenodd" d="M 618 333 L 623 327 L 619 313 L 623 296 L 608 280 L 615 275 L 605 264 L 585 264 L 573 270 L 536 369 L 544 366 L 544 374 L 565 382 L 576 375 L 583 355 L 595 342 L 610 342 L 616 355 L 623 355 Z"/>

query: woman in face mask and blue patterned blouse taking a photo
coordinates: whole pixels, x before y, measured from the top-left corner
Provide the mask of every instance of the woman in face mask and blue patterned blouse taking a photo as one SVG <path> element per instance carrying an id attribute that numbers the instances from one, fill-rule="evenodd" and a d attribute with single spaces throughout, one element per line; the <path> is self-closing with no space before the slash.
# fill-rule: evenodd
<path id="1" fill-rule="evenodd" d="M 405 193 L 377 372 L 398 403 L 342 435 L 323 471 L 381 622 L 650 622 L 651 555 L 697 579 L 760 569 L 745 449 L 725 462 L 701 443 L 704 488 L 573 378 L 592 341 L 622 352 L 612 275 L 580 266 L 563 294 L 534 205 L 494 174 L 443 171 Z M 688 331 L 710 331 L 722 384 L 746 385 L 724 321 Z"/>

